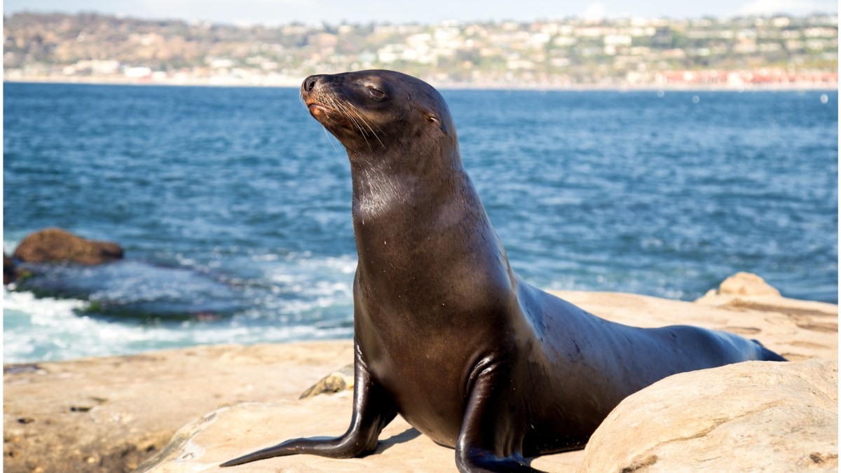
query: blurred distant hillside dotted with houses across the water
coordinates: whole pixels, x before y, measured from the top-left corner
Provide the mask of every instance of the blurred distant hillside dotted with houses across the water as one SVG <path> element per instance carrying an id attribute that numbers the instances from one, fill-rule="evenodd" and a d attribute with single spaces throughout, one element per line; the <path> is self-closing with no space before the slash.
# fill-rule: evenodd
<path id="1" fill-rule="evenodd" d="M 436 88 L 838 88 L 838 15 L 237 27 L 98 13 L 3 24 L 8 82 L 298 87 L 391 69 Z"/>

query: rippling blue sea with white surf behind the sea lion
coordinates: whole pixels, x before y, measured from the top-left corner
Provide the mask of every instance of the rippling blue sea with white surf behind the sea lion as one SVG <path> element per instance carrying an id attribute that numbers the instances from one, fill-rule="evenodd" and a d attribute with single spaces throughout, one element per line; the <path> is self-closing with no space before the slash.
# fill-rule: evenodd
<path id="1" fill-rule="evenodd" d="M 443 95 L 532 284 L 694 300 L 749 271 L 837 302 L 837 92 Z M 350 169 L 297 90 L 3 98 L 6 252 L 58 226 L 127 258 L 6 290 L 5 361 L 352 337 Z"/>

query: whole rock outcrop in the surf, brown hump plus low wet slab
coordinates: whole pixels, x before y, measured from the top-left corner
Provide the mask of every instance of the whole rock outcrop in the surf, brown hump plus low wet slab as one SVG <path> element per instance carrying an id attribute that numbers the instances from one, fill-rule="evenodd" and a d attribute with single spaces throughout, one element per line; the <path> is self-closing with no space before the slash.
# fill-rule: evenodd
<path id="1" fill-rule="evenodd" d="M 245 307 L 239 293 L 208 274 L 127 261 L 116 243 L 86 240 L 57 228 L 24 238 L 13 257 L 4 258 L 3 279 L 13 270 L 15 290 L 87 300 L 84 315 L 214 321 Z M 14 266 L 15 260 L 23 263 Z"/>

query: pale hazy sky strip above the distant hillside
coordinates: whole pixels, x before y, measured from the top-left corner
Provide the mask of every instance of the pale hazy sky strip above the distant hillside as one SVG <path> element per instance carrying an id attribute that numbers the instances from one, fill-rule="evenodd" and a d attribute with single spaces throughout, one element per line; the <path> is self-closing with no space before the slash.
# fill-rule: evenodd
<path id="1" fill-rule="evenodd" d="M 838 12 L 837 0 L 584 0 L 551 2 L 523 0 L 5 0 L 3 13 L 21 11 L 95 11 L 152 19 L 210 20 L 232 24 L 340 23 L 431 23 L 447 19 L 533 20 L 579 17 L 671 17 L 696 18 L 738 14 Z"/>

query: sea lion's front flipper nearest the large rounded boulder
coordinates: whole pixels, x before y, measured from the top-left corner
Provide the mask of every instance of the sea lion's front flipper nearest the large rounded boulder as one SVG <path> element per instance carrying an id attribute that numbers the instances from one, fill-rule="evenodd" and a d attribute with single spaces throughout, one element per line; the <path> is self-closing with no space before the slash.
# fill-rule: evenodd
<path id="1" fill-rule="evenodd" d="M 484 359 L 470 375 L 468 407 L 456 444 L 462 472 L 540 473 L 523 458 L 523 412 L 509 391 L 510 365 Z"/>

